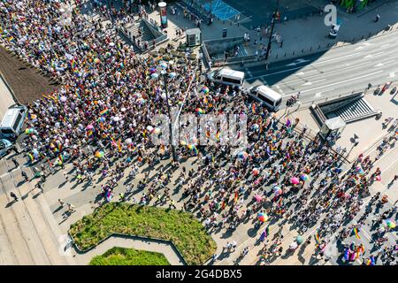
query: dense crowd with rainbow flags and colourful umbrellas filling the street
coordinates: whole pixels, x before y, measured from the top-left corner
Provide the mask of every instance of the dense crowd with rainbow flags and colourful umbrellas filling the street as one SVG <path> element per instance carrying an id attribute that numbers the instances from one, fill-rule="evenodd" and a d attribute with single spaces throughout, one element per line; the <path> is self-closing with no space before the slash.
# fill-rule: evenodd
<path id="1" fill-rule="evenodd" d="M 250 218 L 256 218 L 257 229 L 264 222 L 280 221 L 280 226 L 291 223 L 305 233 L 323 218 L 317 232 L 321 255 L 330 236 L 358 216 L 369 187 L 381 174 L 379 168 L 373 169 L 371 157 L 358 157 L 343 173 L 341 156 L 318 138 L 309 142 L 305 129 L 297 130 L 298 119 L 281 122 L 241 90 L 201 80 L 188 57 L 183 64 L 177 60 L 165 64 L 156 51 L 145 57 L 135 54 L 114 29 L 91 22 L 78 8 L 73 10 L 71 25 L 62 26 L 60 2 L 0 3 L 2 44 L 63 83 L 29 105 L 22 144 L 32 163 L 41 162 L 42 171 L 63 169 L 70 162 L 78 183 L 106 179 L 101 188 L 104 202 L 111 201 L 114 187 L 128 171 L 121 201 L 169 203 L 176 208 L 178 203 L 167 187 L 175 174 L 177 187 L 186 196 L 183 209 L 198 210 L 210 233 L 235 230 Z M 172 46 L 167 54 L 169 49 Z M 160 69 L 174 74 L 166 86 L 154 75 Z M 203 86 L 210 91 L 201 91 Z M 175 107 L 188 93 L 183 112 L 200 115 L 198 109 L 205 113 L 228 109 L 248 114 L 249 145 L 243 154 L 235 155 L 226 145 L 180 144 L 180 161 L 168 170 L 161 167 L 152 180 L 148 172 L 134 188 L 143 164 L 153 167 L 171 155 L 169 146 L 157 146 L 151 140 L 158 126 L 152 118 L 166 114 L 165 88 L 170 96 L 167 103 Z M 198 169 L 188 170 L 182 157 L 197 157 Z M 129 198 L 134 192 L 142 192 L 142 197 Z M 383 205 L 383 200 L 380 196 L 371 203 Z M 371 210 L 370 204 L 356 226 L 341 230 L 341 238 L 352 229 L 360 230 Z M 395 213 L 396 209 L 388 210 L 375 223 L 379 239 L 388 230 L 384 220 Z M 269 233 L 265 226 L 261 241 Z M 264 244 L 264 262 L 282 254 L 280 237 Z M 236 243 L 227 245 L 227 253 L 231 247 Z M 356 256 L 364 253 L 358 247 L 347 249 L 355 250 Z M 380 254 L 382 262 L 393 263 L 396 247 L 386 250 Z"/>

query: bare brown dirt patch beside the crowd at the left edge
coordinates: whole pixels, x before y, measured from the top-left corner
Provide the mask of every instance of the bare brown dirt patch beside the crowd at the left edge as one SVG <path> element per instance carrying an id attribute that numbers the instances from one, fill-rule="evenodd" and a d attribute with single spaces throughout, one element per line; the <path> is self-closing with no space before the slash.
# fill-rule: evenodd
<path id="1" fill-rule="evenodd" d="M 43 94 L 52 93 L 59 87 L 55 80 L 43 76 L 39 70 L 19 60 L 1 46 L 0 71 L 17 96 L 19 103 L 31 103 L 42 98 Z"/>

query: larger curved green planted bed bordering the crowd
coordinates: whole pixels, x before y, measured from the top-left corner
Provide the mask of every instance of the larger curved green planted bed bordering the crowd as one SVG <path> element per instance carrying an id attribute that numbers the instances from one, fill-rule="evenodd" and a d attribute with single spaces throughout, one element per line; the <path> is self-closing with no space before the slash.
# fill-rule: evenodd
<path id="1" fill-rule="evenodd" d="M 172 241 L 188 264 L 203 264 L 217 249 L 192 213 L 129 203 L 107 203 L 74 223 L 69 232 L 82 250 L 111 233 Z"/>

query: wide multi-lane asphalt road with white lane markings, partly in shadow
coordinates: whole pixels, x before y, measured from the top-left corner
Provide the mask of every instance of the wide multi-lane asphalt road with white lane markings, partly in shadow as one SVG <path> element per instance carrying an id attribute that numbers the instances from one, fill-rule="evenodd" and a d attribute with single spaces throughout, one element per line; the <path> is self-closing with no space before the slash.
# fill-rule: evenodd
<path id="1" fill-rule="evenodd" d="M 398 33 L 269 65 L 243 67 L 247 86 L 265 84 L 289 97 L 301 91 L 301 102 L 363 91 L 398 80 Z M 285 98 L 286 99 L 286 98 Z"/>

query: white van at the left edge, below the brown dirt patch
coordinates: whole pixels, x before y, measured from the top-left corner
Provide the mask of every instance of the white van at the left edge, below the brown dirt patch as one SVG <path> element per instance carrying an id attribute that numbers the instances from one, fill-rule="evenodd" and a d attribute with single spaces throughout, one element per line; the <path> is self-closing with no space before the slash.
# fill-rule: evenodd
<path id="1" fill-rule="evenodd" d="M 20 134 L 24 120 L 27 117 L 27 107 L 23 105 L 12 105 L 4 115 L 0 126 L 0 136 L 15 140 Z"/>

